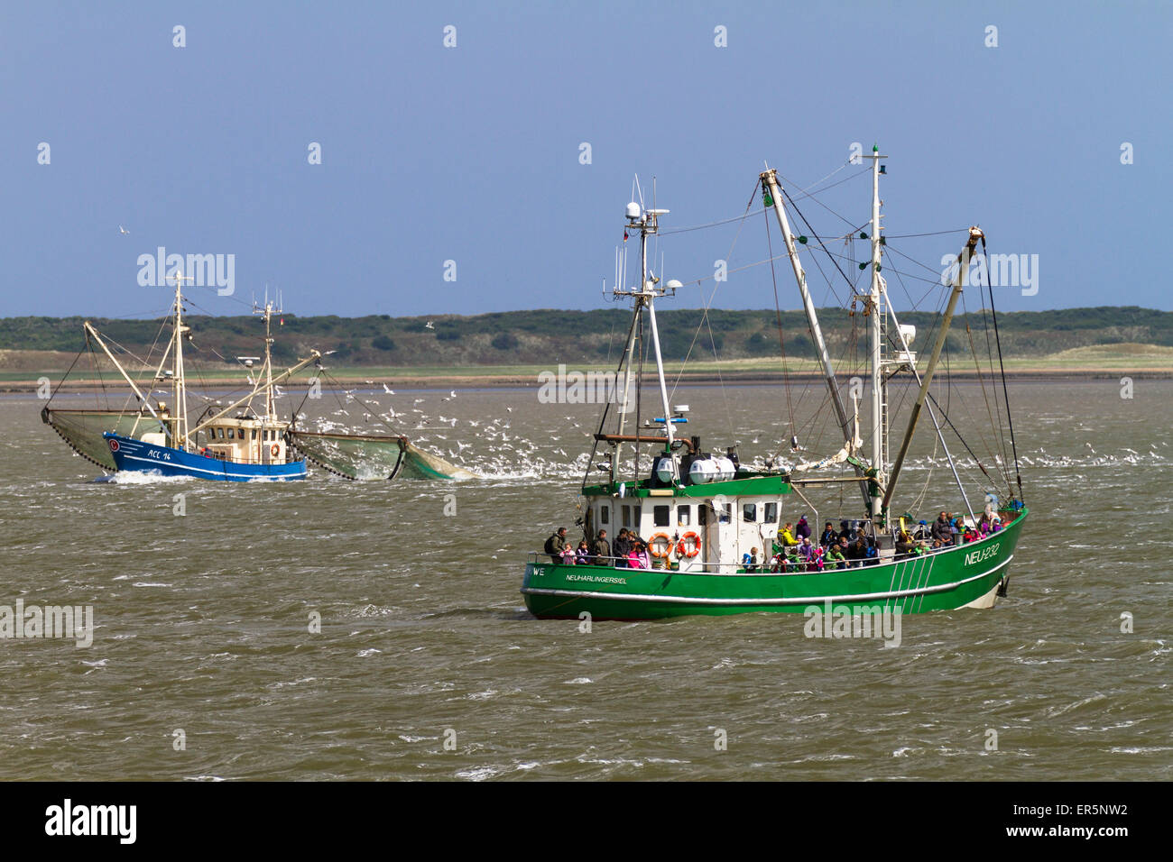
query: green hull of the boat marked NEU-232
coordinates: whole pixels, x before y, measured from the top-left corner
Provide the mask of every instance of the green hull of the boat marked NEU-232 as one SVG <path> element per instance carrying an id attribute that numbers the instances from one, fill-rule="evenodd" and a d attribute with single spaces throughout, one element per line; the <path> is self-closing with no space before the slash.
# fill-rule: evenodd
<path id="1" fill-rule="evenodd" d="M 945 551 L 860 569 L 811 573 L 682 573 L 664 569 L 529 563 L 522 595 L 542 618 L 663 619 L 692 615 L 804 612 L 830 602 L 852 613 L 923 613 L 992 603 L 1009 577 L 1026 509 L 1005 529 Z"/>

